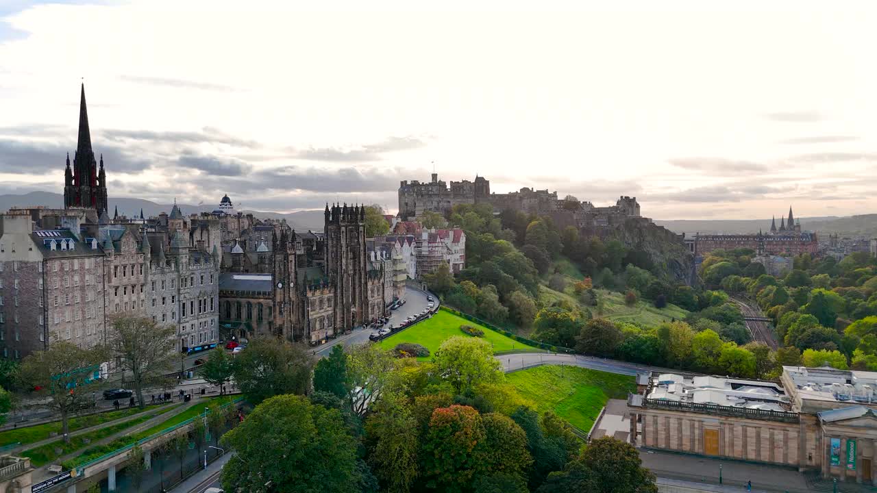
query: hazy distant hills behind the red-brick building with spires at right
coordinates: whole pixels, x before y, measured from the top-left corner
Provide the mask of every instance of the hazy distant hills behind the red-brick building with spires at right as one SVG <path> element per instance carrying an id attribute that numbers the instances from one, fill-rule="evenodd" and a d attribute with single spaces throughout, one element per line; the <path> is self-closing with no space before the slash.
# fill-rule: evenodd
<path id="1" fill-rule="evenodd" d="M 780 218 L 777 219 L 777 226 L 780 225 Z M 851 216 L 838 218 L 837 216 L 826 216 L 819 218 L 800 218 L 801 227 L 805 231 L 815 231 L 824 233 L 840 233 L 847 236 L 877 236 L 877 214 L 863 214 L 860 216 Z M 668 230 L 676 233 L 684 232 L 687 236 L 694 235 L 697 232 L 701 234 L 745 234 L 759 232 L 759 230 L 767 232 L 770 230 L 770 219 L 741 219 L 741 220 L 660 220 L 655 219 L 655 224 L 662 225 Z"/>

